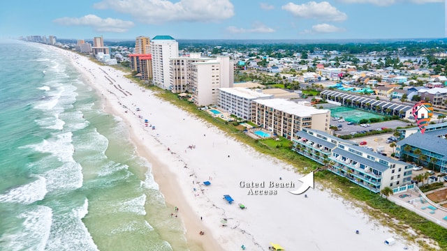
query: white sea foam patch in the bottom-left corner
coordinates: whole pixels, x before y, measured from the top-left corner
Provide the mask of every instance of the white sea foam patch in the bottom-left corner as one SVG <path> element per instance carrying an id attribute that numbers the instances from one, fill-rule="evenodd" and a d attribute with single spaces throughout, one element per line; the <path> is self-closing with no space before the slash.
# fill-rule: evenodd
<path id="1" fill-rule="evenodd" d="M 51 229 L 51 208 L 36 206 L 31 211 L 21 213 L 17 218 L 23 220 L 23 227 L 17 233 L 6 232 L 0 237 L 4 250 L 45 250 Z"/>

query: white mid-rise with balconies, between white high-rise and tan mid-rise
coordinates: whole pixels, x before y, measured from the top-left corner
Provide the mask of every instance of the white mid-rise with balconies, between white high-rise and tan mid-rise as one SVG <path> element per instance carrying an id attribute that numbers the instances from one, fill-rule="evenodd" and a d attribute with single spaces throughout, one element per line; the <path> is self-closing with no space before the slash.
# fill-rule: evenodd
<path id="1" fill-rule="evenodd" d="M 264 94 L 261 89 L 256 91 L 243 88 L 219 88 L 217 106 L 239 118 L 251 121 L 253 100 L 274 98 L 273 94 Z"/>

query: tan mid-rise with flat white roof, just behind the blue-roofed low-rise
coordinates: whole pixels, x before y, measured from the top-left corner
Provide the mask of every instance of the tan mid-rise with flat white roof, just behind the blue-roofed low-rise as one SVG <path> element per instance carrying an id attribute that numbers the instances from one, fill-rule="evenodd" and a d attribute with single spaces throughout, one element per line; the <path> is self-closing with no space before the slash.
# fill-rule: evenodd
<path id="1" fill-rule="evenodd" d="M 330 110 L 316 109 L 307 101 L 253 100 L 251 121 L 276 135 L 292 139 L 303 128 L 329 132 Z"/>

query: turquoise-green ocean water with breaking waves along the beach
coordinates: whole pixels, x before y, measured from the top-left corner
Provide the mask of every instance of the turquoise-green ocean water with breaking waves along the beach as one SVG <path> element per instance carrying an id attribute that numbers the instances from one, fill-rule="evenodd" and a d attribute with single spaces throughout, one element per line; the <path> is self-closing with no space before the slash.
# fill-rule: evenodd
<path id="1" fill-rule="evenodd" d="M 0 40 L 0 250 L 188 250 L 124 123 L 45 46 Z"/>

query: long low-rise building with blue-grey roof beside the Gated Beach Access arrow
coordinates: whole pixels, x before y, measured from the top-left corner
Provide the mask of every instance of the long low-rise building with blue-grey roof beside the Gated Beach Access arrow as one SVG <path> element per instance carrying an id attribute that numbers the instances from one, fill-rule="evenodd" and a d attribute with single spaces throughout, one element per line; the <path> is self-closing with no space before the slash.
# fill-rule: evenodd
<path id="1" fill-rule="evenodd" d="M 374 153 L 327 132 L 303 128 L 296 132 L 292 142 L 295 152 L 372 192 L 411 183 L 413 165 Z"/>

